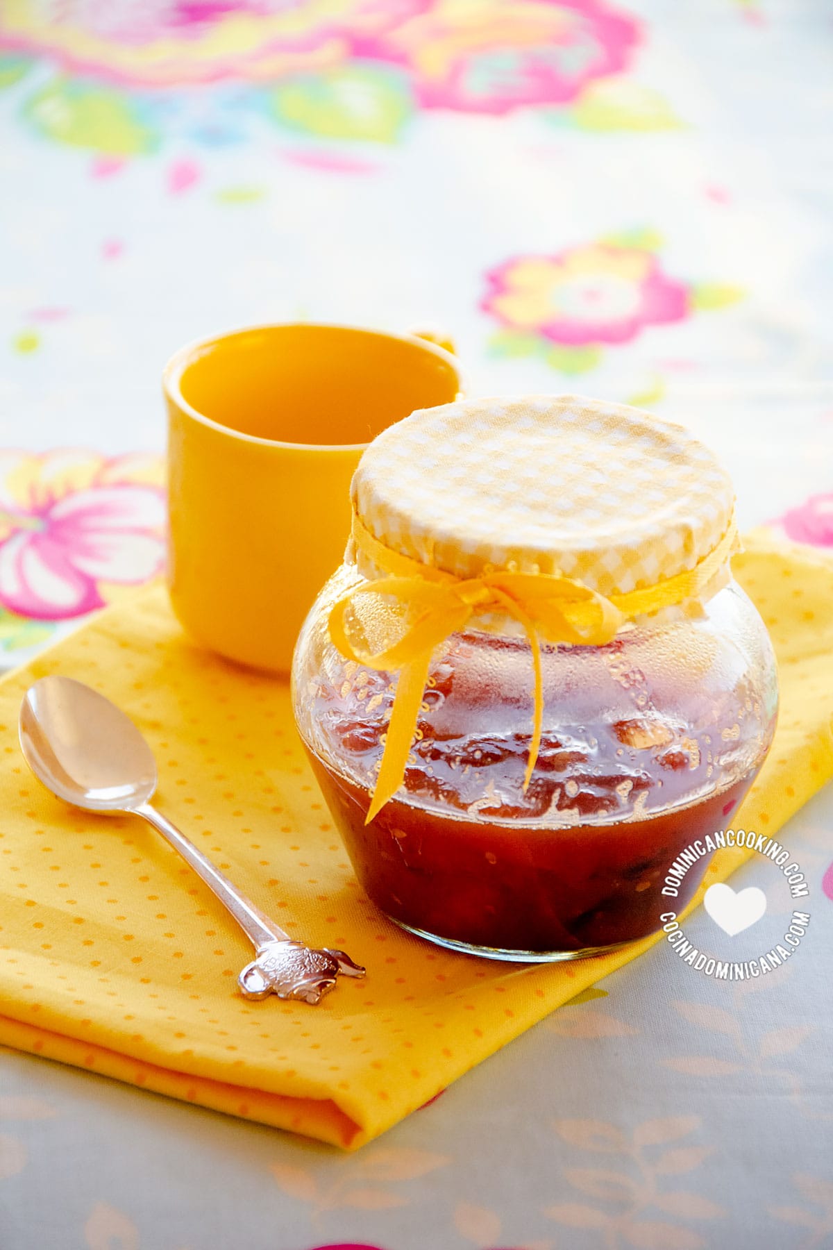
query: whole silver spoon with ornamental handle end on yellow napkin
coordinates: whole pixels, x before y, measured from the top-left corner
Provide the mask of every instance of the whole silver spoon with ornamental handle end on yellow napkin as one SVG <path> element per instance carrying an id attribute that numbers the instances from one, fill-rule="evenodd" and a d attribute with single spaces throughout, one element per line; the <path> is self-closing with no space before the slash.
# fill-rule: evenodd
<path id="1" fill-rule="evenodd" d="M 104 695 L 71 678 L 41 678 L 24 695 L 20 745 L 37 780 L 59 799 L 84 811 L 144 816 L 202 878 L 255 948 L 237 978 L 246 998 L 274 992 L 315 1004 L 338 972 L 365 975 L 343 951 L 312 950 L 290 938 L 151 808 L 156 760 L 130 718 Z"/>

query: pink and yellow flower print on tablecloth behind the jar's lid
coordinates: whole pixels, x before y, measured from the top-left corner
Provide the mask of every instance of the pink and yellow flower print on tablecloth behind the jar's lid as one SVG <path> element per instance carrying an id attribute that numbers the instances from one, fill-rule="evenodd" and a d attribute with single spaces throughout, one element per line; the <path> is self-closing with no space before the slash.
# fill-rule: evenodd
<path id="1" fill-rule="evenodd" d="M 520 256 L 486 275 L 482 302 L 512 330 L 583 346 L 627 342 L 647 325 L 682 321 L 689 291 L 653 252 L 587 244 L 555 256 Z"/>

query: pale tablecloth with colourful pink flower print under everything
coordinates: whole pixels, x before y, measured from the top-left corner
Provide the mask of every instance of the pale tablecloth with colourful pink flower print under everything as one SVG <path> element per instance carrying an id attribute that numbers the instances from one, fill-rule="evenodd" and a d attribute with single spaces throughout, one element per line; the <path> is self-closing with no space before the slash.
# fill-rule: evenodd
<path id="1" fill-rule="evenodd" d="M 0 666 L 160 571 L 161 366 L 244 324 L 440 326 L 833 548 L 832 48 L 823 0 L 5 0 Z M 0 1246 L 833 1246 L 832 819 L 788 968 L 657 949 L 355 1158 L 4 1054 Z"/>

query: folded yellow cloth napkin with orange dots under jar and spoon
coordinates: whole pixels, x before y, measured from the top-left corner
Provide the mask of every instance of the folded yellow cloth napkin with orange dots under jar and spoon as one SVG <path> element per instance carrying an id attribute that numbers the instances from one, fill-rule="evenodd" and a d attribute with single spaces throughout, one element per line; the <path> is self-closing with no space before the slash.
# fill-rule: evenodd
<path id="1" fill-rule="evenodd" d="M 738 825 L 773 834 L 833 774 L 833 564 L 758 539 L 734 569 L 782 682 Z M 72 811 L 29 772 L 20 699 L 59 671 L 146 734 L 166 815 L 290 932 L 343 946 L 367 979 L 340 980 L 317 1008 L 240 998 L 251 949 L 181 859 L 140 819 Z M 0 1042 L 20 1050 L 356 1148 L 657 940 L 522 968 L 400 932 L 353 880 L 286 684 L 199 650 L 161 588 L 9 675 L 0 732 Z M 747 854 L 719 852 L 707 881 Z"/>

